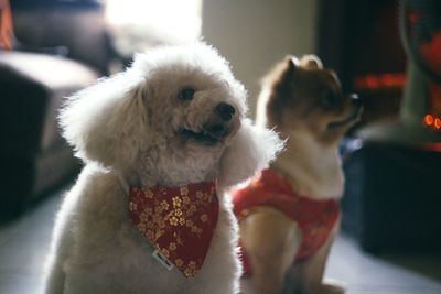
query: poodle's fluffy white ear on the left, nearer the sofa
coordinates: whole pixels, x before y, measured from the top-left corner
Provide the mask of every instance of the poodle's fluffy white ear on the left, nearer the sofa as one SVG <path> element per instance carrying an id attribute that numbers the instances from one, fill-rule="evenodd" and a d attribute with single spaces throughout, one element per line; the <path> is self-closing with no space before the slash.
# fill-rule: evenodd
<path id="1" fill-rule="evenodd" d="M 104 166 L 132 162 L 137 132 L 147 128 L 144 87 L 143 78 L 126 72 L 67 98 L 60 126 L 77 157 Z"/>

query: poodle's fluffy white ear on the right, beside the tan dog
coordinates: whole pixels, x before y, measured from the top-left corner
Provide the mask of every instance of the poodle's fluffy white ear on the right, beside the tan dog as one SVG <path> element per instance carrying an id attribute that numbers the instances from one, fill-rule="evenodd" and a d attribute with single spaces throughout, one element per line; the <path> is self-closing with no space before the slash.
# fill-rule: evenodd
<path id="1" fill-rule="evenodd" d="M 220 159 L 219 185 L 229 187 L 252 177 L 267 167 L 283 146 L 284 142 L 275 131 L 254 126 L 246 119 Z"/>

